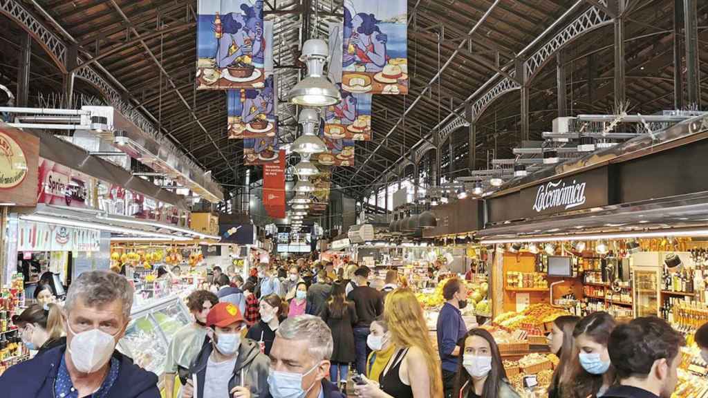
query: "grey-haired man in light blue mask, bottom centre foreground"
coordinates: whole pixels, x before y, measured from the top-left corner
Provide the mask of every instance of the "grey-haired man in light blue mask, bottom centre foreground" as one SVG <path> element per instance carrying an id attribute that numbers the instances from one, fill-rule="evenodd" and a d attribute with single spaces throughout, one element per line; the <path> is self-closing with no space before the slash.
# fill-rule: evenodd
<path id="1" fill-rule="evenodd" d="M 326 380 L 333 351 L 332 334 L 319 317 L 286 319 L 270 350 L 268 385 L 273 398 L 344 398 Z"/>

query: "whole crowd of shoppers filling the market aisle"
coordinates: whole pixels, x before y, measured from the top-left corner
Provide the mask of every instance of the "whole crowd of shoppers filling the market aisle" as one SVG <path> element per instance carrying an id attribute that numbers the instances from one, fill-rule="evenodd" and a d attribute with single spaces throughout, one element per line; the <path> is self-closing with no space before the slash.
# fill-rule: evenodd
<path id="1" fill-rule="evenodd" d="M 329 263 L 263 264 L 245 283 L 234 269 L 215 267 L 215 289 L 186 299 L 194 322 L 171 340 L 164 397 L 519 397 L 493 336 L 468 330 L 462 319 L 462 280 L 442 287 L 437 353 L 421 304 L 395 271 L 382 290 L 370 282 L 369 268 L 353 264 L 338 271 Z M 160 397 L 155 375 L 115 350 L 132 297 L 121 275 L 89 271 L 70 286 L 64 309 L 47 298 L 13 317 L 25 344 L 39 353 L 0 376 L 0 391 L 8 397 Z M 708 325 L 695 340 L 708 359 Z M 548 396 L 669 398 L 684 343 L 656 317 L 625 323 L 605 312 L 558 317 L 548 336 L 549 351 L 559 358 Z"/>

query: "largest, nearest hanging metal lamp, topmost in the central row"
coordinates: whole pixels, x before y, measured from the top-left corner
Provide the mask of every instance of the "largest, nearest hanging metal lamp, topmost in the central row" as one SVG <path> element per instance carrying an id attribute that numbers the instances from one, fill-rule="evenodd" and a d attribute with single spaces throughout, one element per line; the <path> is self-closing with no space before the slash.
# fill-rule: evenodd
<path id="1" fill-rule="evenodd" d="M 341 94 L 323 74 L 329 56 L 324 40 L 309 39 L 302 45 L 299 60 L 307 64 L 307 76 L 287 93 L 288 101 L 300 106 L 330 106 L 341 101 Z"/>

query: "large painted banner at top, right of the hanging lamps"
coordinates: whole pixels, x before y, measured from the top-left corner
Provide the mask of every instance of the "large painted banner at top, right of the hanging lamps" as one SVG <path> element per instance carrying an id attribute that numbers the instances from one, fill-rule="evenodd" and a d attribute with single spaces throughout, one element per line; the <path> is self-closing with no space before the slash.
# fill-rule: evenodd
<path id="1" fill-rule="evenodd" d="M 342 87 L 350 93 L 407 94 L 405 0 L 346 0 Z"/>

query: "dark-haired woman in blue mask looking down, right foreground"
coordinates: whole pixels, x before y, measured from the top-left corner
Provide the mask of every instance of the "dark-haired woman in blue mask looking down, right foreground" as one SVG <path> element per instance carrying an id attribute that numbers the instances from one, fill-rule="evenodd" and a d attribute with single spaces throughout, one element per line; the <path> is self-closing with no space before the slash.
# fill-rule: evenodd
<path id="1" fill-rule="evenodd" d="M 615 384 L 615 369 L 607 353 L 607 341 L 614 329 L 615 319 L 607 312 L 595 312 L 576 324 L 573 338 L 577 355 L 569 382 L 563 386 L 569 397 L 602 397 Z"/>

